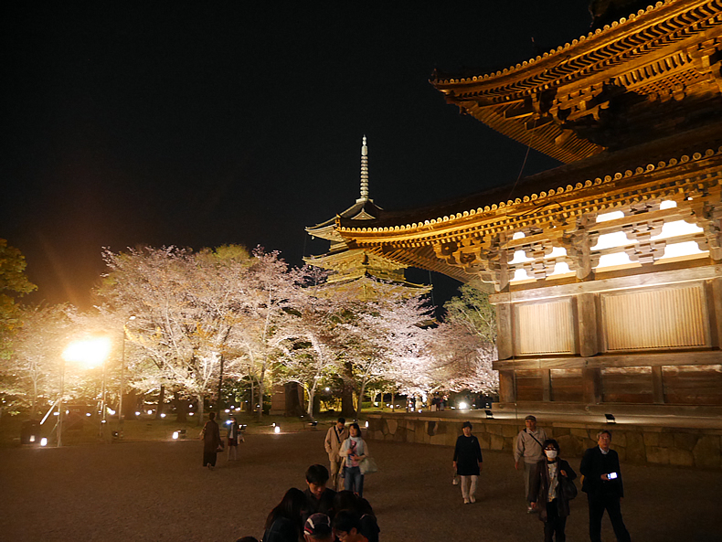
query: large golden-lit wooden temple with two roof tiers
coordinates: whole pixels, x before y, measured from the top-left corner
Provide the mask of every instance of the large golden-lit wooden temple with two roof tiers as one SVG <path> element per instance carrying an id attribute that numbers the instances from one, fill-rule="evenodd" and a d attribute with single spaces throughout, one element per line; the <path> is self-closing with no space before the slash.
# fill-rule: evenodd
<path id="1" fill-rule="evenodd" d="M 309 228 L 345 258 L 493 290 L 495 408 L 722 412 L 722 0 L 626 4 L 536 58 L 430 81 L 563 165 Z"/>

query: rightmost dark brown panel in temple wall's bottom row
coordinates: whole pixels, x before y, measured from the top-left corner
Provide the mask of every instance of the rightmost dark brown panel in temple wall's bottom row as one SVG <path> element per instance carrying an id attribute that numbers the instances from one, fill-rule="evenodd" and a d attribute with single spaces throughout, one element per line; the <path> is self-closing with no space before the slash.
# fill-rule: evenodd
<path id="1" fill-rule="evenodd" d="M 664 402 L 722 405 L 722 365 L 662 367 Z"/>

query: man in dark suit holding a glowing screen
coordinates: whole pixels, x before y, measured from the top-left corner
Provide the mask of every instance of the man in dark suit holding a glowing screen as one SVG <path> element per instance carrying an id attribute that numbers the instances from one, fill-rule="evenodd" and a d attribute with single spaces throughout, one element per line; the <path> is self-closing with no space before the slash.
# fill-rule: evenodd
<path id="1" fill-rule="evenodd" d="M 584 476 L 581 491 L 587 494 L 589 501 L 589 540 L 601 542 L 601 518 L 606 510 L 617 540 L 630 542 L 632 538 L 621 519 L 624 486 L 621 484 L 619 455 L 610 449 L 611 432 L 600 430 L 597 441 L 599 446 L 584 452 L 579 466 L 579 472 Z"/>

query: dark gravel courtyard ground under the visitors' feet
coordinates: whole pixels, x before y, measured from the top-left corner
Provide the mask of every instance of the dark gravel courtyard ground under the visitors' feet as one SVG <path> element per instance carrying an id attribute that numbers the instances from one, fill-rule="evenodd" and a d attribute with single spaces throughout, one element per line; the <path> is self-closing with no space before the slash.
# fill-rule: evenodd
<path id="1" fill-rule="evenodd" d="M 218 541 L 260 537 L 266 515 L 303 473 L 325 464 L 324 430 L 250 435 L 240 461 L 201 467 L 199 441 L 123 442 L 0 450 L 0 540 Z M 366 476 L 387 542 L 541 540 L 525 514 L 524 483 L 506 453 L 484 452 L 478 502 L 451 485 L 450 448 L 370 441 L 379 472 Z M 572 460 L 577 468 L 579 460 Z M 622 465 L 625 522 L 636 541 L 719 540 L 722 473 Z M 567 536 L 588 540 L 584 494 Z M 602 537 L 613 540 L 605 517 Z"/>

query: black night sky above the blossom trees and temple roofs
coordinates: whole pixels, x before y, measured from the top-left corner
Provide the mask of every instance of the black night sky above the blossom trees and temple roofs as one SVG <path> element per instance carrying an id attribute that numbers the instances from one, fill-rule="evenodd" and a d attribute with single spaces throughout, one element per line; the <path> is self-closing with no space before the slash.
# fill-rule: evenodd
<path id="1" fill-rule="evenodd" d="M 364 134 L 380 207 L 513 184 L 526 147 L 447 105 L 433 69 L 503 69 L 590 23 L 585 0 L 49 4 L 1 8 L 0 237 L 27 300 L 81 307 L 102 247 L 323 253 L 303 228 L 358 197 Z M 524 175 L 555 165 L 531 151 Z"/>

